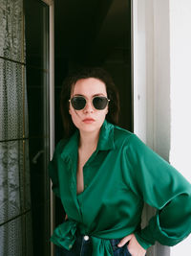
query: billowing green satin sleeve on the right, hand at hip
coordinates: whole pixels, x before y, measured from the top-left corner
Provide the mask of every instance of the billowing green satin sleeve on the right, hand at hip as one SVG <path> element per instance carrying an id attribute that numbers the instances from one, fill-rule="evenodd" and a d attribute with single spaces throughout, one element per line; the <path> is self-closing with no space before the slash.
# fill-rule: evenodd
<path id="1" fill-rule="evenodd" d="M 191 233 L 191 184 L 134 134 L 126 155 L 132 189 L 157 209 L 136 233 L 138 243 L 145 249 L 156 241 L 169 246 L 180 243 Z"/>

